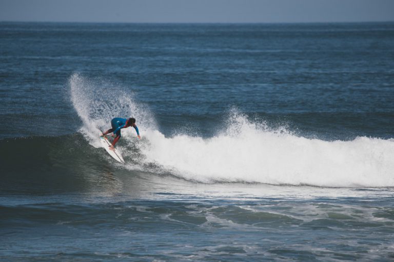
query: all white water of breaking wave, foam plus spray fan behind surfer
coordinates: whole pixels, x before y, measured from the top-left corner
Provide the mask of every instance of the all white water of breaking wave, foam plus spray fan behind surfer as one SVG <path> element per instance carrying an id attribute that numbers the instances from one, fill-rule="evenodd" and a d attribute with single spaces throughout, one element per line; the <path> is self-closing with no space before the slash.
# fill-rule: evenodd
<path id="1" fill-rule="evenodd" d="M 122 131 L 118 148 L 128 170 L 172 175 L 202 183 L 247 182 L 319 187 L 393 187 L 394 140 L 357 137 L 325 141 L 294 135 L 285 128 L 249 120 L 233 109 L 226 126 L 204 138 L 179 132 L 166 137 L 147 107 L 116 85 L 73 74 L 72 104 L 81 133 L 99 147 L 99 129 L 110 119 L 134 116 L 143 139 Z"/>

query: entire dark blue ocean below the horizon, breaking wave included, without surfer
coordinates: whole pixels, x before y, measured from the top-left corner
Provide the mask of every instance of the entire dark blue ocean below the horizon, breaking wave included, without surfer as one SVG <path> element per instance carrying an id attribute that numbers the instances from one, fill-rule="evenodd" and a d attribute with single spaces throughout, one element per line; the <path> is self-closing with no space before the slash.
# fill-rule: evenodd
<path id="1" fill-rule="evenodd" d="M 0 260 L 394 260 L 393 61 L 394 23 L 0 23 Z"/>

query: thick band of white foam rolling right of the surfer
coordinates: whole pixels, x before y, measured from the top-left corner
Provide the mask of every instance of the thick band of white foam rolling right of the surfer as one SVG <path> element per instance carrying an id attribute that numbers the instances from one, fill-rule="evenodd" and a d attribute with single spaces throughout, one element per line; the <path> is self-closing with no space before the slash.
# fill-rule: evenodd
<path id="1" fill-rule="evenodd" d="M 199 182 L 258 182 L 322 187 L 394 186 L 394 140 L 358 137 L 327 142 L 269 131 L 242 115 L 224 132 L 203 139 L 145 134 L 147 162 Z M 234 118 L 236 118 L 234 120 Z"/>

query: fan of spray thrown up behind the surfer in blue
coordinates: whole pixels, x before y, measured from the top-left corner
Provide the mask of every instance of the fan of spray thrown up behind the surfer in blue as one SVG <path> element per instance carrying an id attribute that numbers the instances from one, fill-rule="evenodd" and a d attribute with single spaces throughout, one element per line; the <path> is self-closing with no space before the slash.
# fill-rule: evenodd
<path id="1" fill-rule="evenodd" d="M 100 130 L 111 128 L 114 117 L 134 117 L 142 130 L 155 128 L 149 109 L 136 103 L 134 94 L 119 85 L 74 73 L 69 79 L 69 87 L 72 105 L 83 122 L 80 132 L 96 147 L 100 146 L 96 139 Z M 129 130 L 122 133 L 125 137 L 130 135 Z"/>

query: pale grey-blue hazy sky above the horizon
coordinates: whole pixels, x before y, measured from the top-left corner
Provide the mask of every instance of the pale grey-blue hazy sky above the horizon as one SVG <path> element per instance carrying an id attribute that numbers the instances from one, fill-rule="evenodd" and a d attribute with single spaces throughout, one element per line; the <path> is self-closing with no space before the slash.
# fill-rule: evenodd
<path id="1" fill-rule="evenodd" d="M 394 21 L 394 0 L 0 0 L 0 21 L 381 22 Z"/>

